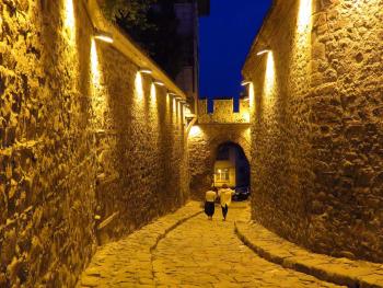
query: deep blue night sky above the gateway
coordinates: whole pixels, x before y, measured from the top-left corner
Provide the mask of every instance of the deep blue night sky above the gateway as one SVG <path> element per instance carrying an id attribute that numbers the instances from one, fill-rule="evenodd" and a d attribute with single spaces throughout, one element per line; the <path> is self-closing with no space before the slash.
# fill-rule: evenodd
<path id="1" fill-rule="evenodd" d="M 237 96 L 241 69 L 271 0 L 211 0 L 201 18 L 200 96 Z"/>

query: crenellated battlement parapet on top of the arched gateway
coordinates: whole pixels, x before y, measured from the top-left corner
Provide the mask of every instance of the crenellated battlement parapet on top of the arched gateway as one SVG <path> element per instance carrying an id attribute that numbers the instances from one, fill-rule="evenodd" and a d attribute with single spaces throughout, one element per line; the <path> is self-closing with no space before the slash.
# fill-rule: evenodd
<path id="1" fill-rule="evenodd" d="M 240 100 L 240 111 L 233 112 L 233 99 L 214 100 L 214 112 L 208 113 L 207 100 L 198 100 L 198 123 L 249 123 L 248 101 Z"/>

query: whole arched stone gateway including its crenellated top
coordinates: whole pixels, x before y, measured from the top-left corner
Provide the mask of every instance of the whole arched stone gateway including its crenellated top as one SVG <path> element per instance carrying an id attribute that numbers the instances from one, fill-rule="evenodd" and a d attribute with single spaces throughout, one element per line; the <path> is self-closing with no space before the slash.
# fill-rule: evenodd
<path id="1" fill-rule="evenodd" d="M 214 105 L 214 113 L 207 114 L 206 102 L 199 103 L 198 124 L 188 138 L 190 193 L 196 199 L 201 199 L 213 184 L 220 146 L 232 143 L 243 151 L 247 162 L 251 161 L 248 103 L 241 101 L 239 113 L 233 113 L 232 100 L 219 100 Z"/>

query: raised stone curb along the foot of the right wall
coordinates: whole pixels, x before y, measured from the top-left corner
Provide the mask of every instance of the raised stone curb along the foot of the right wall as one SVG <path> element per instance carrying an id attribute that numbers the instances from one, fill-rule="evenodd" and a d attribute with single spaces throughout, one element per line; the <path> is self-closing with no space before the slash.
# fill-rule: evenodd
<path id="1" fill-rule="evenodd" d="M 350 288 L 383 287 L 383 265 L 311 253 L 254 222 L 236 221 L 234 231 L 260 257 L 285 268 Z"/>

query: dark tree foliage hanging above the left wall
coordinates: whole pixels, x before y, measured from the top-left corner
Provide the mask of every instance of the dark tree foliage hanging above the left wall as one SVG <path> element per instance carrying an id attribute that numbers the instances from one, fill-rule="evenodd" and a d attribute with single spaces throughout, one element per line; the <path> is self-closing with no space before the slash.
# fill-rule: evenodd
<path id="1" fill-rule="evenodd" d="M 129 34 L 173 79 L 181 71 L 190 39 L 178 33 L 171 0 L 105 0 L 105 15 Z"/>

